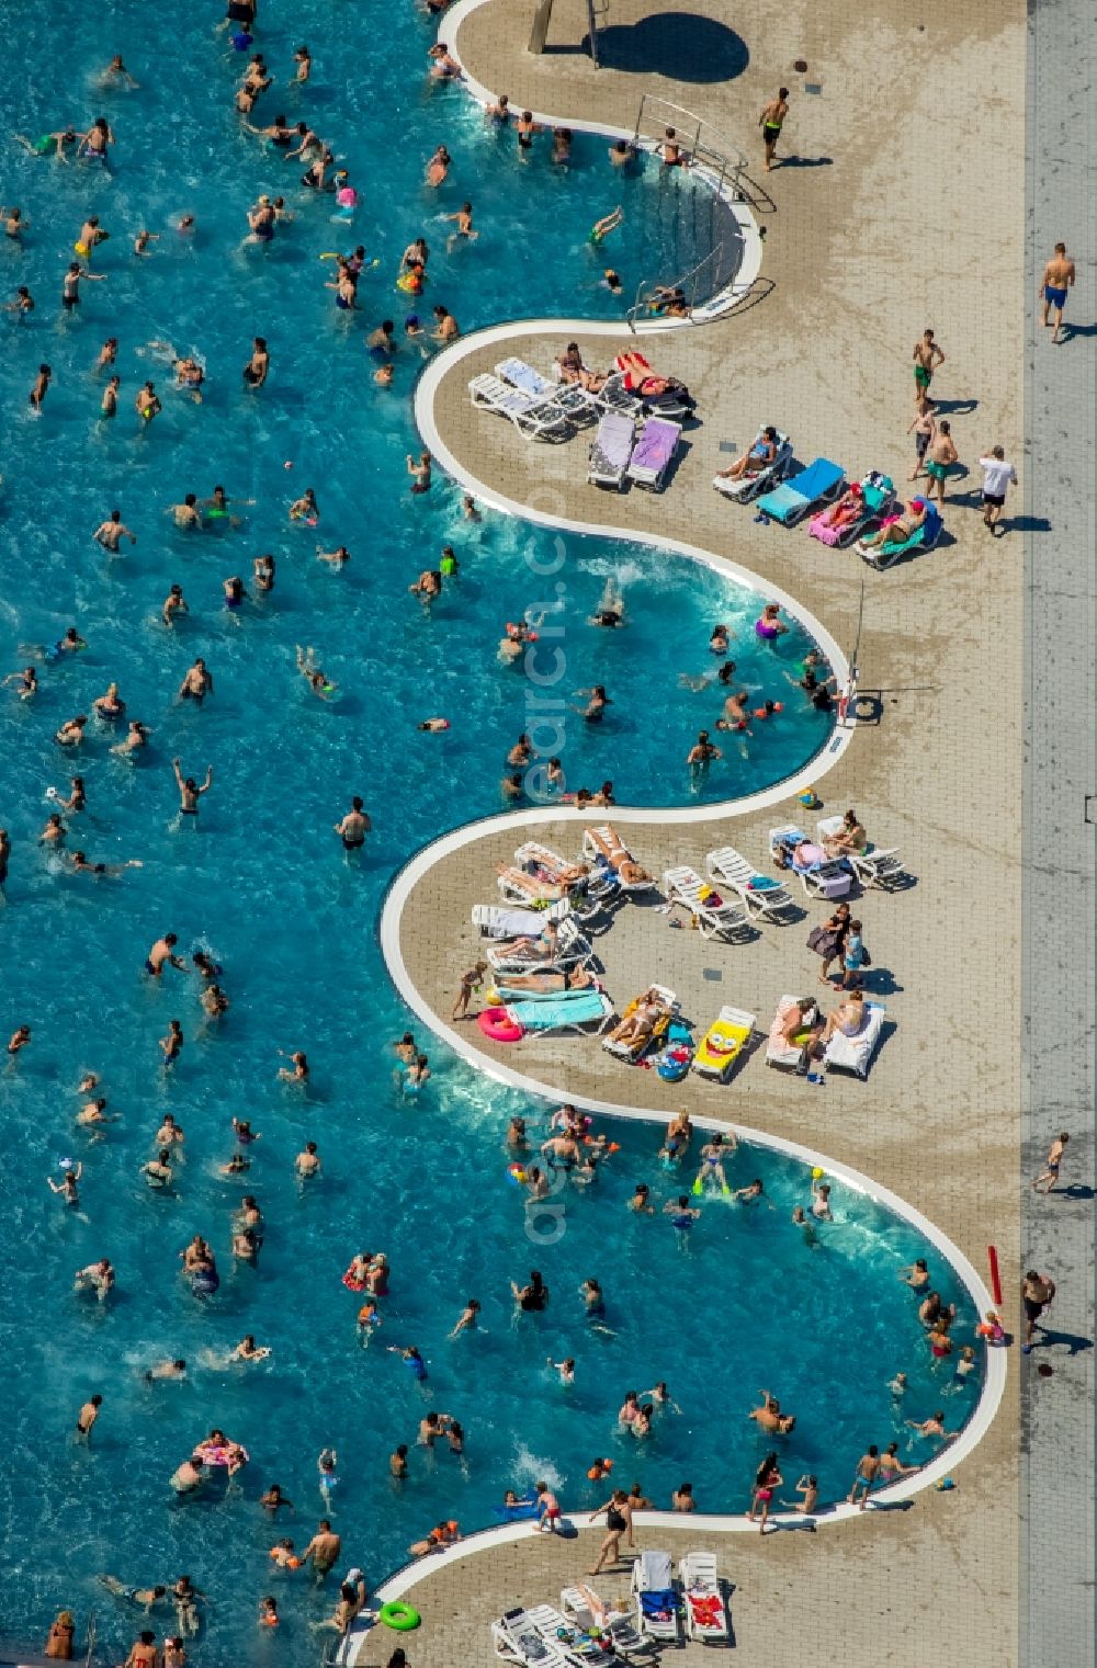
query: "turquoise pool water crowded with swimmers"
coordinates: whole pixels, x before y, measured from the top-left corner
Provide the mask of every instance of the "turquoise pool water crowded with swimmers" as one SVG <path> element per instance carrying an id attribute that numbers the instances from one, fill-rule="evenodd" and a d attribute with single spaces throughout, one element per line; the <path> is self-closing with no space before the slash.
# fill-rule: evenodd
<path id="1" fill-rule="evenodd" d="M 795 634 L 778 652 L 763 651 L 751 632 L 763 599 L 706 569 L 604 542 L 566 539 L 558 567 L 554 539 L 494 517 L 464 522 L 461 495 L 441 480 L 412 500 L 404 454 L 416 444 L 409 392 L 421 360 L 401 350 L 396 387 L 382 395 L 361 344 L 362 327 L 402 317 L 392 277 L 421 229 L 434 245 L 429 299 L 442 299 L 466 329 L 576 307 L 604 314 L 618 304 L 596 289 L 586 227 L 621 200 L 638 234 L 631 252 L 613 252 L 626 289 L 653 267 L 673 275 L 685 234 L 683 217 L 668 212 L 670 192 L 691 185 L 658 172 L 609 180 L 601 142 L 576 140 L 566 178 L 544 152 L 521 165 L 459 92 L 424 90 L 427 37 L 411 7 L 387 17 L 379 68 L 376 42 L 334 27 L 327 7 L 304 5 L 292 33 L 277 13 L 264 18 L 257 45 L 284 80 L 292 48 L 307 38 L 316 80 L 302 95 L 272 90 L 257 115 L 284 108 L 292 120 L 306 110 L 346 153 L 366 203 L 352 232 L 336 235 L 331 205 L 291 187 L 294 227 L 265 257 L 240 252 L 245 207 L 296 170 L 237 133 L 229 105 L 239 63 L 212 13 L 170 18 L 170 73 L 165 18 L 147 7 L 104 13 L 67 0 L 47 18 L 0 5 L 0 22 L 28 67 L 12 127 L 37 135 L 102 110 L 119 135 L 109 178 L 5 153 L 5 202 L 20 203 L 30 230 L 25 247 L 0 250 L 3 284 L 8 292 L 27 284 L 37 310 L 23 325 L 2 320 L 3 671 L 27 664 L 23 646 L 50 644 L 72 622 L 88 644 L 63 664 L 37 662 L 33 702 L 10 687 L 0 699 L 0 814 L 13 839 L 0 911 L 5 1017 L 8 1032 L 23 1021 L 33 1027 L 17 1068 L 0 1074 L 8 1136 L 0 1211 L 12 1248 L 0 1289 L 5 1630 L 37 1633 L 60 1605 L 82 1615 L 95 1605 L 100 1630 L 124 1650 L 135 1618 L 112 1610 L 95 1575 L 155 1581 L 187 1570 L 214 1598 L 207 1660 L 250 1658 L 260 1648 L 255 1600 L 276 1585 L 267 1560 L 276 1528 L 257 1496 L 282 1483 L 297 1511 L 277 1533 L 302 1545 L 321 1511 L 324 1444 L 341 1454 L 336 1523 L 347 1561 L 362 1563 L 371 1583 L 441 1516 L 484 1525 L 506 1486 L 539 1471 L 559 1480 L 569 1503 L 588 1500 L 584 1473 L 598 1453 L 616 1454 L 618 1475 L 639 1476 L 660 1503 L 690 1475 L 705 1506 L 745 1505 L 760 1446 L 745 1414 L 760 1383 L 800 1413 L 786 1470 L 815 1468 L 833 1498 L 862 1443 L 892 1433 L 892 1371 L 910 1371 L 918 1414 L 947 1388 L 923 1359 L 912 1303 L 893 1278 L 922 1249 L 917 1236 L 850 1199 L 845 1219 L 808 1251 L 788 1223 L 806 1191 L 803 1169 L 740 1154 L 735 1181 L 761 1171 L 775 1211 L 716 1203 L 686 1251 L 668 1223 L 624 1213 L 638 1178 L 660 1198 L 671 1186 L 656 1169 L 655 1134 L 629 1129 L 598 1186 L 564 1194 L 563 1238 L 531 1241 L 501 1141 L 513 1111 L 536 1121 L 544 1109 L 434 1049 L 432 1081 L 407 1101 L 389 1051 L 406 1021 L 376 946 L 394 869 L 454 822 L 499 806 L 503 757 L 529 709 L 528 681 L 494 651 L 503 622 L 526 607 L 563 604 L 553 622 L 564 629 L 568 697 L 604 682 L 614 699 L 598 732 L 568 716 L 561 756 L 573 784 L 613 777 L 621 801 L 641 804 L 728 797 L 786 776 L 825 741 L 827 722 L 796 707 L 785 676 L 808 641 Z M 94 90 L 94 72 L 114 50 L 140 92 Z M 419 180 L 439 138 L 454 155 L 452 183 L 429 195 Z M 466 193 L 484 235 L 449 259 L 437 215 Z M 78 317 L 62 319 L 60 274 L 88 212 L 112 232 L 95 260 L 107 282 L 87 284 Z M 192 242 L 172 229 L 182 212 L 197 217 Z M 147 264 L 130 254 L 142 225 L 160 234 Z M 381 267 L 362 279 L 362 315 L 347 337 L 322 289 L 331 267 L 316 257 L 359 240 Z M 115 422 L 102 424 L 92 365 L 112 334 L 122 404 Z M 259 399 L 245 399 L 239 367 L 254 334 L 270 342 L 274 370 Z M 204 354 L 202 407 L 139 354 L 155 339 Z M 42 360 L 53 387 L 35 419 L 27 392 Z M 145 375 L 162 390 L 164 414 L 139 435 L 132 397 Z M 187 490 L 205 497 L 215 482 L 255 500 L 235 507 L 240 525 L 177 532 L 165 507 Z M 321 502 L 316 532 L 287 524 L 287 504 L 306 485 Z M 90 532 L 114 505 L 139 542 L 109 560 Z M 349 569 L 319 564 L 317 539 L 349 545 Z M 444 542 L 456 545 L 461 574 L 427 617 L 406 587 L 436 565 Z M 279 564 L 274 595 L 229 614 L 222 580 L 239 572 L 250 584 L 252 557 L 264 550 Z M 609 575 L 628 615 L 613 634 L 586 624 Z M 190 604 L 174 634 L 157 624 L 170 582 Z M 558 582 L 563 595 L 546 594 Z M 715 669 L 706 644 L 716 620 L 733 629 L 741 684 L 758 699 L 790 699 L 780 722 L 740 737 L 705 782 L 690 782 L 685 752 L 716 717 L 718 699 L 680 687 L 680 677 L 696 682 Z M 294 672 L 294 644 L 316 649 L 337 701 L 309 694 Z M 174 701 L 199 654 L 215 676 L 202 711 Z M 110 754 L 117 736 L 97 721 L 77 759 L 52 741 L 115 677 L 130 716 L 152 729 L 137 767 Z M 432 714 L 451 717 L 446 736 L 414 729 Z M 199 827 L 177 826 L 174 756 L 197 774 L 214 766 Z M 68 849 L 102 862 L 135 859 L 140 869 L 95 881 L 37 849 L 52 809 L 45 789 L 63 787 L 75 769 L 88 807 L 70 819 Z M 356 791 L 376 834 L 366 861 L 349 866 L 331 824 Z M 232 1007 L 219 1024 L 204 1021 L 194 976 L 169 971 L 162 986 L 142 976 L 152 939 L 169 929 L 182 949 L 205 944 L 224 964 Z M 157 1039 L 172 1017 L 185 1046 L 165 1076 Z M 307 1096 L 277 1083 L 279 1048 L 307 1048 Z M 73 1124 L 85 1069 L 100 1073 L 117 1116 L 99 1143 Z M 157 1196 L 140 1166 L 165 1111 L 187 1133 L 187 1163 L 175 1189 Z M 234 1116 L 250 1116 L 262 1133 L 244 1184 L 220 1171 Z M 306 1139 L 319 1143 L 324 1174 L 301 1191 L 292 1163 Z M 83 1163 L 78 1214 L 45 1186 L 62 1158 Z M 234 1271 L 229 1233 L 244 1191 L 259 1198 L 267 1231 L 259 1266 Z M 212 1241 L 222 1268 L 209 1304 L 177 1274 L 194 1233 Z M 354 1251 L 381 1248 L 392 1294 L 379 1338 L 362 1351 L 357 1304 L 339 1274 Z M 102 1309 L 72 1294 L 73 1269 L 100 1254 L 119 1271 Z M 516 1328 L 508 1281 L 531 1266 L 544 1271 L 554 1303 L 544 1319 Z M 586 1329 L 574 1294 L 591 1273 L 608 1288 L 609 1338 Z M 947 1271 L 935 1274 L 958 1299 Z M 449 1343 L 471 1294 L 484 1304 L 483 1333 Z M 219 1366 L 247 1331 L 270 1346 L 269 1361 Z M 384 1353 L 389 1341 L 419 1344 L 431 1374 L 422 1391 Z M 544 1369 L 549 1353 L 579 1361 L 573 1391 Z M 147 1386 L 142 1369 L 175 1354 L 190 1363 L 187 1383 Z M 641 1454 L 616 1434 L 614 1411 L 624 1389 L 656 1378 L 670 1378 L 683 1413 L 668 1416 Z M 104 1414 L 90 1448 L 77 1448 L 75 1411 L 95 1389 Z M 968 1396 L 948 1394 L 958 1423 Z M 431 1404 L 463 1421 L 466 1465 L 439 1453 L 431 1470 L 412 1453 L 397 1495 L 387 1454 L 397 1441 L 414 1443 Z M 214 1490 L 179 1505 L 167 1478 L 212 1424 L 244 1441 L 252 1465 L 227 1498 Z M 296 1660 L 312 1660 L 307 1623 L 327 1600 L 304 1583 L 276 1590 Z"/>

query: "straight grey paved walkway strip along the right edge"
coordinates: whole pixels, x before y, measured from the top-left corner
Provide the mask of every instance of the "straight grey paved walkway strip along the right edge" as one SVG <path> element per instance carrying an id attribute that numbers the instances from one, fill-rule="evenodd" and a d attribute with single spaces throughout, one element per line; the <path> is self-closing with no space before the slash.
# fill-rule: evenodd
<path id="1" fill-rule="evenodd" d="M 1094 1663 L 1094 826 L 1097 801 L 1097 349 L 1094 8 L 1029 18 L 1029 352 L 1025 377 L 1024 1166 L 1070 1133 L 1062 1183 L 1025 1191 L 1025 1263 L 1052 1273 L 1049 1333 L 1022 1378 L 1020 1646 L 1040 1668 Z M 1037 284 L 1054 245 L 1077 264 L 1074 329 L 1054 347 Z M 1092 821 L 1087 821 L 1087 812 Z M 1039 1366 L 1052 1366 L 1042 1378 Z M 1059 1485 L 1064 1434 L 1079 1488 Z"/>

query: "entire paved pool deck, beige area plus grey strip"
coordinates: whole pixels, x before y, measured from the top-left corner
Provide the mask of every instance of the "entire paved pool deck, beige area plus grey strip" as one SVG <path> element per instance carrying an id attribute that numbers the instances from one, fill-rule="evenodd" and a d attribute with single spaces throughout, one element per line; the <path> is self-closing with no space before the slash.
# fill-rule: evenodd
<path id="1" fill-rule="evenodd" d="M 741 564 L 763 585 L 795 594 L 847 652 L 863 595 L 867 722 L 818 792 L 827 812 L 857 806 L 878 844 L 900 847 L 917 884 L 858 901 L 870 989 L 888 1007 L 867 1083 L 832 1074 L 813 1091 L 768 1071 L 758 1051 L 725 1088 L 696 1078 L 668 1088 L 574 1037 L 524 1041 L 506 1063 L 561 1098 L 658 1111 L 686 1103 L 696 1116 L 750 1124 L 868 1173 L 980 1271 L 985 1248 L 997 1246 L 1012 1331 L 1019 1269 L 1035 1259 L 1064 1276 L 1055 1339 L 1027 1359 L 1010 1351 L 998 1416 L 957 1466 L 953 1491 L 816 1535 L 708 1536 L 660 1523 L 638 1541 L 676 1555 L 691 1545 L 716 1551 L 736 1588 L 735 1643 L 750 1661 L 786 1661 L 821 1645 L 850 1668 L 913 1668 L 943 1635 L 973 1668 L 1089 1665 L 1094 881 L 1084 796 L 1094 791 L 1094 354 L 1087 332 L 1052 349 L 1032 309 L 1032 264 L 1065 237 L 1080 255 L 1075 324 L 1085 314 L 1092 210 L 1079 170 L 1092 158 L 1077 52 L 1085 13 L 1070 0 L 1055 18 L 1037 8 L 1027 25 L 1017 0 L 963 10 L 932 0 L 917 15 L 878 0 L 872 17 L 852 3 L 758 0 L 735 13 L 748 55 L 741 73 L 728 75 L 743 53 L 716 0 L 690 0 L 673 18 L 651 0 L 611 0 L 609 67 L 598 72 L 574 50 L 578 0 L 556 0 L 553 50 L 539 58 L 524 50 L 533 12 L 533 0 L 489 0 L 471 13 L 456 37 L 471 73 L 516 107 L 623 130 L 639 93 L 658 92 L 736 137 L 771 197 L 758 210 L 771 290 L 723 324 L 645 345 L 690 384 L 703 419 L 661 495 L 588 487 L 584 435 L 529 445 L 501 419 L 471 412 L 466 384 L 503 357 L 498 347 L 474 349 L 442 379 L 434 415 L 446 445 L 494 494 L 569 520 L 688 539 Z M 796 58 L 806 73 L 793 70 Z M 678 78 L 658 73 L 668 63 Z M 716 72 L 721 78 L 700 80 Z M 1055 100 L 1060 72 L 1072 125 Z M 781 147 L 791 160 L 763 175 L 755 123 L 778 83 L 793 90 Z M 755 524 L 713 492 L 711 475 L 728 460 L 721 442 L 741 445 L 761 422 L 786 425 L 805 460 L 825 454 L 905 482 L 910 350 L 927 324 L 947 354 L 933 392 L 972 465 L 950 485 L 948 539 L 932 555 L 873 574 L 855 554 Z M 508 350 L 548 369 L 558 345 L 554 334 L 533 334 Z M 608 362 L 619 345 L 586 337 L 584 357 Z M 975 460 L 995 442 L 1017 459 L 1024 485 L 998 540 L 982 525 L 975 490 Z M 1057 637 L 1060 652 L 1049 656 Z M 690 699 L 698 727 L 716 716 L 705 696 Z M 668 757 L 666 769 L 668 781 L 681 781 L 680 759 Z M 613 776 L 611 749 L 604 774 Z M 721 844 L 761 864 L 768 827 L 800 814 L 786 801 L 690 826 L 641 817 L 628 821 L 626 836 L 655 874 L 676 861 L 701 867 Z M 578 836 L 574 822 L 551 817 L 538 831 L 566 852 Z M 494 901 L 494 864 L 524 837 L 493 832 L 459 847 L 404 909 L 404 962 L 444 1019 L 478 951 L 469 906 Z M 1044 861 L 1049 847 L 1062 851 L 1062 864 Z M 765 1031 L 785 991 L 818 989 L 805 939 L 820 907 L 728 946 L 628 904 L 596 949 L 619 1002 L 658 979 L 701 1024 L 731 1002 L 756 1012 Z M 474 1022 L 459 1029 L 491 1068 Z M 1075 1196 L 1034 1199 L 1029 1178 L 1060 1123 L 1077 1129 L 1067 1176 Z M 1040 1361 L 1052 1376 L 1037 1378 Z M 1065 1453 L 1079 1458 L 1069 1478 Z M 426 1575 L 411 1595 L 424 1615 L 412 1660 L 437 1668 L 488 1660 L 488 1623 L 519 1601 L 556 1600 L 593 1561 L 594 1545 L 594 1531 L 581 1543 L 521 1540 Z M 624 1576 L 604 1581 L 603 1596 L 624 1585 Z M 359 1661 L 379 1668 L 391 1646 L 377 1630 Z"/>

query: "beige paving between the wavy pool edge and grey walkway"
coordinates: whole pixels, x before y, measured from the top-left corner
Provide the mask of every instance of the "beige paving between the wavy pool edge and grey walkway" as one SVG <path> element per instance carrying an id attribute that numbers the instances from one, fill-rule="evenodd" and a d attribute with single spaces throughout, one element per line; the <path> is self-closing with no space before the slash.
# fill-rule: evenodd
<path id="1" fill-rule="evenodd" d="M 656 10 L 651 0 L 613 0 L 611 22 L 628 27 Z M 728 17 L 713 0 L 690 0 L 688 10 Z M 574 519 L 690 537 L 791 590 L 847 649 L 863 579 L 862 689 L 880 691 L 880 721 L 858 729 L 818 786 L 828 811 L 857 806 L 870 834 L 900 846 L 917 876 L 910 891 L 868 894 L 858 906 L 875 967 L 895 984 L 887 996 L 893 1031 L 865 1084 L 833 1074 L 821 1094 L 811 1093 L 768 1071 L 756 1054 L 726 1088 L 696 1078 L 668 1088 L 583 1039 L 523 1042 L 508 1061 L 561 1096 L 660 1111 L 685 1099 L 696 1113 L 821 1148 L 925 1211 L 978 1268 L 995 1243 L 1012 1281 L 1020 539 L 992 542 L 968 504 L 947 504 L 955 542 L 877 575 L 805 532 L 756 525 L 750 510 L 725 504 L 710 485 L 723 462 L 718 442 L 748 440 L 756 424 L 770 420 L 791 429 L 803 459 L 823 452 L 853 470 L 875 465 L 905 479 L 910 349 L 927 324 L 948 355 L 935 392 L 973 402 L 952 414 L 962 459 L 973 462 L 995 440 L 1007 450 L 1019 444 L 1024 12 L 1017 0 L 973 8 L 932 0 L 917 13 L 877 0 L 872 10 L 870 17 L 850 3 L 771 0 L 736 10 L 733 25 L 750 45 L 750 63 L 740 78 L 713 85 L 594 72 L 568 53 L 531 58 L 528 0 L 493 0 L 459 30 L 458 50 L 473 73 L 508 90 L 513 103 L 629 125 L 639 92 L 655 88 L 741 135 L 751 160 L 760 148 L 758 108 L 785 80 L 793 88 L 788 148 L 833 158 L 766 180 L 775 210 L 760 217 L 763 274 L 775 289 L 765 304 L 721 325 L 678 332 L 666 345 L 651 344 L 650 357 L 690 382 L 703 417 L 665 495 L 599 494 L 584 485 L 584 439 L 531 447 L 508 424 L 469 412 L 468 377 L 501 357 L 498 349 L 446 377 L 437 417 L 461 464 L 498 490 L 538 502 L 551 497 L 556 514 Z M 551 40 L 578 38 L 579 5 L 558 0 L 556 12 Z M 681 12 L 686 30 L 685 5 Z M 796 57 L 808 60 L 808 77 L 791 70 Z M 821 95 L 806 95 L 805 80 L 821 83 Z M 988 203 L 993 212 L 983 212 Z M 551 335 L 521 340 L 516 350 L 548 365 L 556 345 Z M 584 354 L 598 362 L 618 345 L 588 340 Z M 698 722 L 715 717 L 705 697 L 696 699 Z M 606 774 L 613 776 L 611 759 Z M 680 777 L 680 761 L 668 761 L 668 779 Z M 710 847 L 725 842 L 761 861 L 766 829 L 798 814 L 791 802 L 688 827 L 629 824 L 628 839 L 656 872 L 671 861 L 700 866 Z M 404 957 L 441 1012 L 447 1014 L 456 976 L 476 946 L 469 904 L 494 899 L 493 864 L 519 837 L 493 834 L 444 859 L 406 911 Z M 576 846 L 574 826 L 549 821 L 544 837 L 566 851 Z M 665 917 L 629 904 L 598 939 L 598 952 L 621 1002 L 656 977 L 678 991 L 700 1024 L 731 1001 L 756 1011 L 765 1029 L 783 991 L 813 986 L 818 962 L 805 937 L 818 916 L 820 906 L 810 906 L 810 919 L 796 926 L 720 946 L 670 931 Z M 483 1044 L 479 1032 L 476 1041 Z M 1015 1448 L 1010 1381 L 990 1434 L 958 1466 L 950 1495 L 922 1495 L 908 1511 L 868 1513 L 815 1536 L 710 1541 L 653 1528 L 641 1531 L 641 1543 L 676 1553 L 713 1545 L 736 1583 L 735 1635 L 745 1660 L 778 1663 L 821 1648 L 852 1668 L 913 1668 L 938 1648 L 938 1621 L 947 1618 L 950 1651 L 978 1668 L 1002 1668 L 1017 1661 Z M 579 1550 L 529 1540 L 439 1570 L 414 1593 L 426 1620 L 412 1660 L 429 1658 L 439 1668 L 484 1660 L 488 1621 L 521 1600 L 554 1598 L 586 1558 L 586 1541 Z M 391 1643 L 376 1635 L 362 1660 L 387 1660 Z"/>

